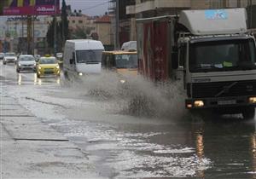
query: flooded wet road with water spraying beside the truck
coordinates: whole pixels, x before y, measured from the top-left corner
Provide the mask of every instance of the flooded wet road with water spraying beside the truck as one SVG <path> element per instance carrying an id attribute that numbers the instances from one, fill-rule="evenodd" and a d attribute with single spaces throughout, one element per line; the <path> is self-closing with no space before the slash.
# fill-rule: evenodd
<path id="1" fill-rule="evenodd" d="M 119 84 L 111 73 L 70 82 L 0 66 L 2 95 L 86 153 L 99 178 L 256 178 L 254 120 L 193 117 L 178 84 L 159 87 L 134 77 Z M 35 177 L 47 177 L 49 166 L 40 167 Z"/>

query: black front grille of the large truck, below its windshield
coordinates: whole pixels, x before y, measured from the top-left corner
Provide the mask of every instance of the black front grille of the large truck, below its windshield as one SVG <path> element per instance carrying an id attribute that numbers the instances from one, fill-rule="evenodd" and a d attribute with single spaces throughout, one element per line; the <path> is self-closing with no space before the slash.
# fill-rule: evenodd
<path id="1" fill-rule="evenodd" d="M 256 95 L 256 80 L 192 84 L 193 98 Z"/>

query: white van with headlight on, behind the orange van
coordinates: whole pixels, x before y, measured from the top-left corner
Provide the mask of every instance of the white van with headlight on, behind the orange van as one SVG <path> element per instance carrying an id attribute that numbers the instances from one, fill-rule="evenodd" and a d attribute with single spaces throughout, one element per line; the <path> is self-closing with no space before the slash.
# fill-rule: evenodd
<path id="1" fill-rule="evenodd" d="M 64 76 L 100 73 L 102 42 L 90 39 L 67 40 L 63 56 Z"/>

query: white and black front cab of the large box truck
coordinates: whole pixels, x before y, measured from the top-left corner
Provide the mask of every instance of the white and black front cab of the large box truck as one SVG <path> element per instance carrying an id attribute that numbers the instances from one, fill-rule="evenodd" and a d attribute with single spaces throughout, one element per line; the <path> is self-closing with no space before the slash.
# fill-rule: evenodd
<path id="1" fill-rule="evenodd" d="M 253 118 L 256 46 L 245 9 L 184 10 L 179 61 L 189 109 L 213 108 Z"/>

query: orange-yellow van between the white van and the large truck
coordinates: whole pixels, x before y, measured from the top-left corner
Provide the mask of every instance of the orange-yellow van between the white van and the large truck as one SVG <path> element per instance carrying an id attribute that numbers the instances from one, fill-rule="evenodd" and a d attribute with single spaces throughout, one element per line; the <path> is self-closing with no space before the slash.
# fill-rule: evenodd
<path id="1" fill-rule="evenodd" d="M 119 74 L 137 75 L 137 51 L 103 51 L 102 68 Z"/>

